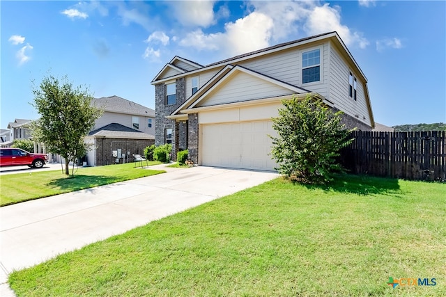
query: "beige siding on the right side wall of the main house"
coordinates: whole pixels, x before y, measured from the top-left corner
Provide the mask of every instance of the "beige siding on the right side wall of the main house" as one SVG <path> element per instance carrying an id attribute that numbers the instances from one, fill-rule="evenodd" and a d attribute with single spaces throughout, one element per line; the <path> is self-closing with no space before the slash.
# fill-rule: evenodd
<path id="1" fill-rule="evenodd" d="M 328 99 L 334 103 L 334 107 L 344 111 L 354 118 L 371 125 L 369 110 L 364 93 L 364 81 L 348 67 L 344 58 L 339 54 L 337 49 L 330 47 L 330 93 Z M 348 74 L 352 72 L 357 80 L 357 96 L 356 101 L 348 95 Z"/>

